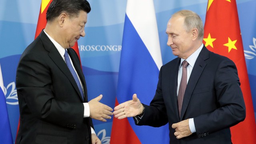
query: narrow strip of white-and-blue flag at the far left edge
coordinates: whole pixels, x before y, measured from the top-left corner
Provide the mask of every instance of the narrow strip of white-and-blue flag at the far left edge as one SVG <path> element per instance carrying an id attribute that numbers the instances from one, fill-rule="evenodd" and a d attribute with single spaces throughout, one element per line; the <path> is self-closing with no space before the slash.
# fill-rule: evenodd
<path id="1" fill-rule="evenodd" d="M 0 65 L 0 143 L 13 144 L 12 132 L 7 112 L 6 98 L 4 95 L 4 82 Z"/>

